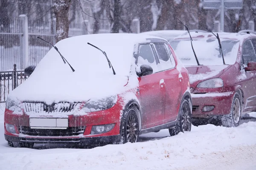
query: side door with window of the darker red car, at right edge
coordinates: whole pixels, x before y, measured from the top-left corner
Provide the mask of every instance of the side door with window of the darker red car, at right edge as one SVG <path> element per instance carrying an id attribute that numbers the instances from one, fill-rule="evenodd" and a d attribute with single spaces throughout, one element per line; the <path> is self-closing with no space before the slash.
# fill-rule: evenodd
<path id="1" fill-rule="evenodd" d="M 243 64 L 256 62 L 256 40 L 245 40 L 242 47 Z M 246 80 L 244 85 L 244 111 L 253 111 L 256 108 L 256 71 L 245 71 Z"/>

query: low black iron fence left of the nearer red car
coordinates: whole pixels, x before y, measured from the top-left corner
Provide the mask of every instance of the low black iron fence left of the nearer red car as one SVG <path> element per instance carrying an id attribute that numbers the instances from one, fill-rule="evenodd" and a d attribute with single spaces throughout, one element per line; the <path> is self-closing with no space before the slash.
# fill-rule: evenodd
<path id="1" fill-rule="evenodd" d="M 16 64 L 13 65 L 13 71 L 0 72 L 0 103 L 6 102 L 9 92 L 27 78 L 24 71 L 17 71 Z"/>

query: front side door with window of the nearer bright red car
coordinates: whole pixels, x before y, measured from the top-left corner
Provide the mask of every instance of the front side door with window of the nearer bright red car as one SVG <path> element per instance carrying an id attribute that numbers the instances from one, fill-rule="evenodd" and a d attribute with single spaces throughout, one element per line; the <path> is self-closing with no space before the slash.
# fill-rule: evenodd
<path id="1" fill-rule="evenodd" d="M 142 110 L 142 129 L 164 123 L 165 85 L 163 73 L 158 72 L 155 53 L 151 44 L 140 44 L 137 66 L 150 65 L 153 74 L 139 77 L 140 106 Z"/>

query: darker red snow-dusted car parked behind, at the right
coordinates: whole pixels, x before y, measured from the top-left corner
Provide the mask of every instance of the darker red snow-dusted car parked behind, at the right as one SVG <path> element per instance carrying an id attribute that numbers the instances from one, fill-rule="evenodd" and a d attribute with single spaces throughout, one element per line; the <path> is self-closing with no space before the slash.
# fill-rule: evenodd
<path id="1" fill-rule="evenodd" d="M 171 42 L 189 71 L 193 99 L 192 118 L 221 119 L 226 127 L 238 126 L 244 113 L 256 111 L 256 33 L 219 33 L 222 54 L 212 33 L 192 32 Z"/>

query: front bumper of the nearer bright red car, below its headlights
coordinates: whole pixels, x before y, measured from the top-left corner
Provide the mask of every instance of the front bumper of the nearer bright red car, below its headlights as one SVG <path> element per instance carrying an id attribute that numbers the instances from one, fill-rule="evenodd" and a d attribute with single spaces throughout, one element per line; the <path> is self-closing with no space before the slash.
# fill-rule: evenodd
<path id="1" fill-rule="evenodd" d="M 118 142 L 120 137 L 120 111 L 114 105 L 105 111 L 92 112 L 84 115 L 68 115 L 67 129 L 31 128 L 30 116 L 26 113 L 15 114 L 6 109 L 4 115 L 4 135 L 9 142 L 34 143 L 112 143 Z M 39 116 L 40 118 L 40 116 Z M 45 118 L 45 116 L 44 116 Z M 46 117 L 47 118 L 47 117 Z M 15 126 L 15 133 L 6 129 L 6 124 Z M 113 129 L 99 134 L 91 134 L 95 125 L 115 124 Z M 82 128 L 80 130 L 80 128 Z"/>

